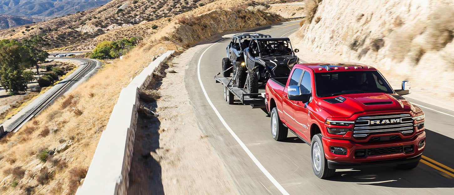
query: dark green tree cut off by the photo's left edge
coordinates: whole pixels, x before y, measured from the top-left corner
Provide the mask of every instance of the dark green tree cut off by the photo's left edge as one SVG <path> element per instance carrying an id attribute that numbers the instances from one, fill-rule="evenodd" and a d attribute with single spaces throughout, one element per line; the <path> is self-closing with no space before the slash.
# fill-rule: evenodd
<path id="1" fill-rule="evenodd" d="M 0 84 L 11 95 L 27 90 L 23 76 L 25 68 L 30 68 L 30 55 L 19 41 L 0 41 Z"/>

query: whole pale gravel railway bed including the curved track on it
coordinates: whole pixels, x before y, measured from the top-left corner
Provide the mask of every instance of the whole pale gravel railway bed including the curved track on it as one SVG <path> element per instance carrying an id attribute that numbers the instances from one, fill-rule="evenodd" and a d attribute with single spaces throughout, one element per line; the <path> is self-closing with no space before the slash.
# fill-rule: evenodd
<path id="1" fill-rule="evenodd" d="M 20 112 L 2 123 L 1 126 L 5 128 L 5 132 L 17 132 L 25 122 L 36 116 L 39 112 L 44 110 L 45 107 L 51 105 L 55 99 L 59 98 L 64 93 L 71 91 L 85 78 L 93 75 L 97 71 L 97 67 L 99 67 L 96 61 L 84 58 L 48 58 L 46 60 L 74 61 L 80 63 L 80 66 L 67 78 L 64 78 L 59 83 L 55 84 L 54 87 L 41 94 Z"/>

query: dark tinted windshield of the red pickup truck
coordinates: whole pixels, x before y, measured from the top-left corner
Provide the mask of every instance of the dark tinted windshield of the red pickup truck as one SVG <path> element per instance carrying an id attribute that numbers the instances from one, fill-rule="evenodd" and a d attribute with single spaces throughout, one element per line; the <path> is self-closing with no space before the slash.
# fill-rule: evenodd
<path id="1" fill-rule="evenodd" d="M 316 73 L 318 97 L 349 93 L 393 93 L 378 71 Z"/>

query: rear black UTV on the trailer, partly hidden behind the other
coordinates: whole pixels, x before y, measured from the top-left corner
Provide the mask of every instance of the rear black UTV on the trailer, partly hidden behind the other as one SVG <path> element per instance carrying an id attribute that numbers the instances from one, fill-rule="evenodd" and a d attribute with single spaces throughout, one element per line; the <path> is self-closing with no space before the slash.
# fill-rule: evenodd
<path id="1" fill-rule="evenodd" d="M 260 33 L 235 34 L 227 46 L 227 58 L 222 59 L 222 76 L 230 77 L 230 74 L 233 73 L 233 75 L 236 75 L 235 83 L 238 86 L 244 87 L 246 82 L 247 75 L 244 71 L 246 62 L 244 61 L 243 51 L 249 47 L 251 40 L 254 38 L 271 38 L 271 35 Z M 242 71 L 237 73 L 238 69 Z"/>

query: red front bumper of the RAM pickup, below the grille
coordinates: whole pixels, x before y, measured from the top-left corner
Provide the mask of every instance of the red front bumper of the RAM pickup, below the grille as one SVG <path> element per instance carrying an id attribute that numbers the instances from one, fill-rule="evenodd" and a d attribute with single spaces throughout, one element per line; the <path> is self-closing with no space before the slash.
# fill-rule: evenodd
<path id="1" fill-rule="evenodd" d="M 374 143 L 355 143 L 350 140 L 341 140 L 341 139 L 331 139 L 327 137 L 322 137 L 323 149 L 325 151 L 325 157 L 328 160 L 328 166 L 331 167 L 342 167 L 342 168 L 355 168 L 355 167 L 364 167 L 364 166 L 378 166 L 378 165 L 387 165 L 387 164 L 405 164 L 414 161 L 419 161 L 422 152 L 424 151 L 424 146 L 419 147 L 418 144 L 420 141 L 425 139 L 425 132 L 421 132 L 418 135 L 415 135 L 412 139 L 408 140 L 399 140 L 399 141 L 384 141 L 384 142 L 374 142 Z M 342 147 L 347 150 L 346 155 L 334 154 L 331 151 L 331 146 Z M 387 154 L 369 154 L 368 151 L 390 148 L 390 147 L 399 147 L 399 146 L 413 146 L 413 151 L 411 152 L 395 152 Z M 355 151 L 365 151 L 365 156 L 356 157 Z M 341 169 L 341 168 L 336 168 Z"/>

